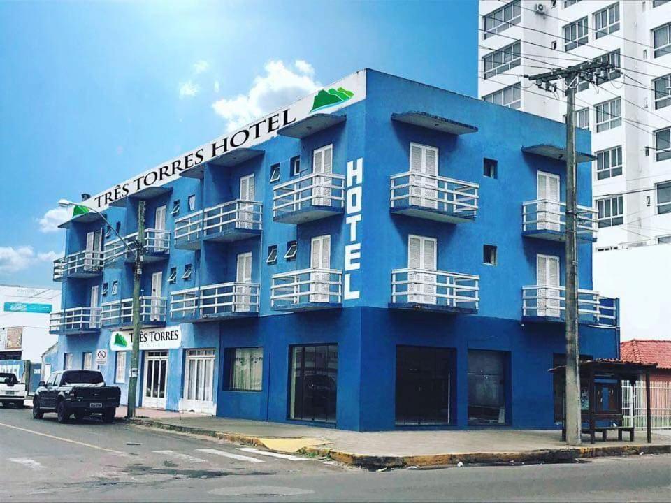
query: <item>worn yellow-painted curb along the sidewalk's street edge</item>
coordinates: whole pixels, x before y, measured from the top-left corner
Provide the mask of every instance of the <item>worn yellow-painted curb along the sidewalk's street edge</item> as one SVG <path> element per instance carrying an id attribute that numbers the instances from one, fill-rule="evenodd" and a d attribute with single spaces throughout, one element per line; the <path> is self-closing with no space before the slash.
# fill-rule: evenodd
<path id="1" fill-rule="evenodd" d="M 214 437 L 219 440 L 238 442 L 257 447 L 267 447 L 260 437 L 206 430 L 192 426 L 180 426 L 151 419 L 133 418 L 129 422 L 192 435 Z M 270 449 L 268 449 L 270 450 Z M 557 449 L 534 449 L 531 451 L 450 453 L 434 455 L 377 456 L 348 453 L 324 446 L 304 447 L 298 453 L 310 456 L 328 457 L 345 465 L 361 468 L 405 468 L 437 467 L 457 465 L 459 462 L 473 465 L 500 465 L 521 462 L 566 462 L 579 458 L 603 458 L 605 456 L 630 456 L 640 454 L 671 454 L 671 444 L 628 444 L 614 446 L 559 447 Z"/>

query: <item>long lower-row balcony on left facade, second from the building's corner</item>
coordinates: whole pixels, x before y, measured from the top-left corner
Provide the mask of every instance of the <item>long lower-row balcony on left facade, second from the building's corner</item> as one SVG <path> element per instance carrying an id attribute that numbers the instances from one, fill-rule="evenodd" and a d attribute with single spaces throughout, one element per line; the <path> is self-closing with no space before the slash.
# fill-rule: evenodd
<path id="1" fill-rule="evenodd" d="M 259 314 L 257 283 L 230 282 L 173 291 L 172 321 L 220 321 Z"/>

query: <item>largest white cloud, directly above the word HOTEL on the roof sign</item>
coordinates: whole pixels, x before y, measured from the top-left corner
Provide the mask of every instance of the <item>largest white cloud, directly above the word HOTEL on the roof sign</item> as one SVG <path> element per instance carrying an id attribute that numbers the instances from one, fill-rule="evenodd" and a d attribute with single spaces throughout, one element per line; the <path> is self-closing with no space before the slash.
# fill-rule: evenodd
<path id="1" fill-rule="evenodd" d="M 286 66 L 284 61 L 268 61 L 264 69 L 266 75 L 255 78 L 247 94 L 212 103 L 215 113 L 226 119 L 229 131 L 315 92 L 321 86 L 314 80 L 314 70 L 307 61 L 296 61 L 294 69 Z"/>

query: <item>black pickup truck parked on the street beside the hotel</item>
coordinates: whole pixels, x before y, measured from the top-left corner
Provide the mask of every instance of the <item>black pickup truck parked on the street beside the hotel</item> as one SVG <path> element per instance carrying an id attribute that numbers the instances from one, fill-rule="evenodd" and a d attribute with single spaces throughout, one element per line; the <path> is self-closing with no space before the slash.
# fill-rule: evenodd
<path id="1" fill-rule="evenodd" d="M 111 423 L 120 396 L 120 388 L 105 386 L 103 374 L 97 370 L 61 370 L 35 391 L 33 417 L 41 419 L 45 412 L 56 412 L 58 422 L 66 423 L 71 414 L 78 421 L 101 414 L 105 423 Z"/>

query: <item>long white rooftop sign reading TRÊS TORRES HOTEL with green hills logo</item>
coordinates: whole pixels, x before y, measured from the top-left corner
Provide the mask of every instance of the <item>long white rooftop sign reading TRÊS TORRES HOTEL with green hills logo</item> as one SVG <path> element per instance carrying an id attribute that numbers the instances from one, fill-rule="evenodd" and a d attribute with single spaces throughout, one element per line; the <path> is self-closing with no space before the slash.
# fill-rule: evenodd
<path id="1" fill-rule="evenodd" d="M 160 187 L 175 180 L 190 169 L 232 152 L 238 148 L 249 148 L 259 145 L 277 136 L 277 131 L 284 126 L 301 121 L 313 113 L 333 113 L 340 108 L 366 99 L 366 71 L 361 70 L 338 82 L 319 89 L 319 91 L 299 99 L 286 108 L 275 110 L 265 117 L 254 121 L 226 136 L 221 136 L 210 143 L 201 145 L 194 150 L 185 152 L 165 163 L 133 177 L 110 189 L 96 194 L 82 204 L 98 211 L 105 210 L 118 199 L 135 194 L 148 187 Z"/>

